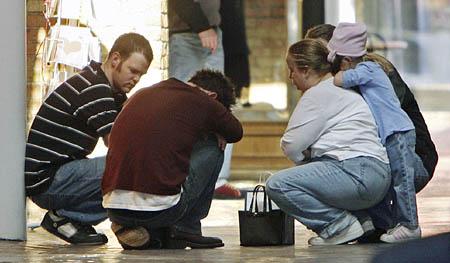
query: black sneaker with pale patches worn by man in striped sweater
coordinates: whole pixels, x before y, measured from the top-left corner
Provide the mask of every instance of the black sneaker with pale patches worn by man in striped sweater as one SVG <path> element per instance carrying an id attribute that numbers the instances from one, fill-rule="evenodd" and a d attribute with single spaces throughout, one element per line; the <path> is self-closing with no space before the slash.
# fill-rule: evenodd
<path id="1" fill-rule="evenodd" d="M 108 242 L 108 238 L 104 234 L 97 233 L 92 226 L 58 216 L 53 211 L 45 214 L 41 226 L 71 244 L 103 245 Z"/>

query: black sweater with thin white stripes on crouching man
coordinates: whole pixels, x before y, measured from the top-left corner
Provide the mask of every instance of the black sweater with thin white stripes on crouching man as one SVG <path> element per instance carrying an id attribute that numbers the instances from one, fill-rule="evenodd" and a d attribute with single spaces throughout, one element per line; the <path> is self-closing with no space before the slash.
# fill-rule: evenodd
<path id="1" fill-rule="evenodd" d="M 111 131 L 126 95 L 113 91 L 100 65 L 92 61 L 41 105 L 26 144 L 27 196 L 45 192 L 61 165 L 86 158 Z"/>

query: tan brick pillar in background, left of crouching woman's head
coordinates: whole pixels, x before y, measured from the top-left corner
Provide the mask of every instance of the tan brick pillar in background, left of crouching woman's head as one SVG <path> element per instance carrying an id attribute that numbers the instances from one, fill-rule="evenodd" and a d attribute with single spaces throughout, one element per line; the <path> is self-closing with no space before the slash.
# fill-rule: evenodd
<path id="1" fill-rule="evenodd" d="M 286 78 L 286 0 L 245 1 L 252 83 Z"/>

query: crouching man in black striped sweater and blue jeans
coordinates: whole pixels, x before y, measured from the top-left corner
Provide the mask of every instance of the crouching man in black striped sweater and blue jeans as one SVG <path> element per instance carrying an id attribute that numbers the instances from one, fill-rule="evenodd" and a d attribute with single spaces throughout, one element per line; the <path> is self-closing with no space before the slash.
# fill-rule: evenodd
<path id="1" fill-rule="evenodd" d="M 100 137 L 108 146 L 128 93 L 153 59 L 149 42 L 127 33 L 105 63 L 91 61 L 43 102 L 28 134 L 26 194 L 48 212 L 41 226 L 72 244 L 104 244 L 92 225 L 106 219 L 101 179 L 105 157 L 88 159 Z"/>

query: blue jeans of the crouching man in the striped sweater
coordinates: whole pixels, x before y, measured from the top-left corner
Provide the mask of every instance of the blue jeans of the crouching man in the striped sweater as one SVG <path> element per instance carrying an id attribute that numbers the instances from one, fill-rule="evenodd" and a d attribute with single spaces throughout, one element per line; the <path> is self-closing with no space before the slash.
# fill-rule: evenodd
<path id="1" fill-rule="evenodd" d="M 101 182 L 105 157 L 75 160 L 62 165 L 50 188 L 31 199 L 39 207 L 60 216 L 96 225 L 107 218 L 102 206 Z"/>

